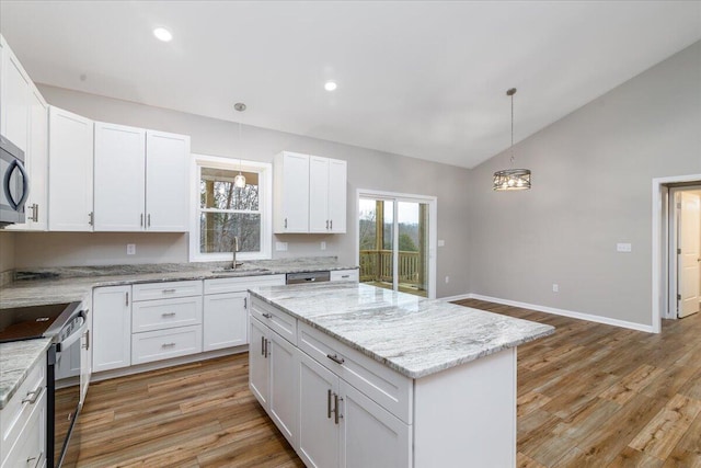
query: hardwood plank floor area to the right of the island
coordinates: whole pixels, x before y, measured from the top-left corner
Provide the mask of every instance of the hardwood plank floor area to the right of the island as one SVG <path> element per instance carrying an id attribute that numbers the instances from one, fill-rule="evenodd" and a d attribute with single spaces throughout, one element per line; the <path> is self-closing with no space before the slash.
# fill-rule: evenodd
<path id="1" fill-rule="evenodd" d="M 660 334 L 481 300 L 552 324 L 518 349 L 518 466 L 701 467 L 701 317 Z"/>

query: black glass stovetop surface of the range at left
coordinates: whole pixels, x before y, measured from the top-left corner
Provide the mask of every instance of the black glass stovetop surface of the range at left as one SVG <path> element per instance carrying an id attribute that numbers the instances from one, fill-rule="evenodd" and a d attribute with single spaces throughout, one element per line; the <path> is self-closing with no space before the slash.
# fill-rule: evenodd
<path id="1" fill-rule="evenodd" d="M 42 338 L 68 304 L 0 310 L 0 343 Z"/>

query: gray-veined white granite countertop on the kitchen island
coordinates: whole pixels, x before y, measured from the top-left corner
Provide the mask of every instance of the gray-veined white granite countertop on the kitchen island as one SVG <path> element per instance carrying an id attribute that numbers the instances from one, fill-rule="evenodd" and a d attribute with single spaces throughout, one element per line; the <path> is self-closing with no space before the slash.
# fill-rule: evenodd
<path id="1" fill-rule="evenodd" d="M 554 333 L 551 326 L 350 282 L 251 294 L 410 378 Z"/>

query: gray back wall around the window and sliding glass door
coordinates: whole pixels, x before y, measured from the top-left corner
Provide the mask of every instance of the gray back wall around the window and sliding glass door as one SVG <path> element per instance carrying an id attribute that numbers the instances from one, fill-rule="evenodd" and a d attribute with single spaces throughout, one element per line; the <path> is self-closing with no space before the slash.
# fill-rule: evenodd
<path id="1" fill-rule="evenodd" d="M 299 135 L 243 126 L 243 147 L 238 147 L 238 124 L 147 105 L 39 85 L 42 94 L 56 106 L 87 117 L 192 136 L 192 151 L 272 162 L 281 150 L 344 159 L 348 161 L 348 210 L 346 235 L 283 235 L 273 241 L 288 242 L 287 252 L 275 258 L 337 255 L 343 263 L 357 264 L 356 192 L 370 189 L 438 197 L 437 296 L 463 294 L 468 284 L 468 178 L 467 169 L 414 158 L 372 151 Z M 232 110 L 233 113 L 233 110 Z M 16 266 L 96 265 L 114 263 L 186 262 L 187 235 L 161 233 L 64 233 L 18 232 Z M 326 250 L 320 242 L 326 241 Z M 126 244 L 136 243 L 137 254 L 126 255 Z"/>

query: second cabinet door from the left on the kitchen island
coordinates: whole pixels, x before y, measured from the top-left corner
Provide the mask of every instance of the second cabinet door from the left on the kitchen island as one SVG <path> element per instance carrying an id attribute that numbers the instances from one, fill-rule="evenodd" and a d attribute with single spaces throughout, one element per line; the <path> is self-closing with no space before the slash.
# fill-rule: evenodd
<path id="1" fill-rule="evenodd" d="M 268 333 L 271 390 L 268 414 L 292 447 L 297 446 L 297 349 L 277 333 Z"/>

